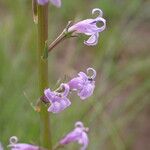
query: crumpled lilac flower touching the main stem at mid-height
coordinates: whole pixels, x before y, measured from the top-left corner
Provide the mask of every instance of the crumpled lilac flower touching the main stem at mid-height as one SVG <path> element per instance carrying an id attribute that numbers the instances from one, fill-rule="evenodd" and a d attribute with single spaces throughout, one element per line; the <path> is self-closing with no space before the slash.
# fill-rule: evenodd
<path id="1" fill-rule="evenodd" d="M 60 87 L 64 89 L 64 92 L 59 93 L 56 91 L 51 91 L 50 89 L 44 90 L 45 97 L 51 103 L 48 108 L 49 112 L 59 113 L 71 105 L 70 100 L 67 98 L 70 90 L 69 86 L 67 84 L 61 84 Z"/>

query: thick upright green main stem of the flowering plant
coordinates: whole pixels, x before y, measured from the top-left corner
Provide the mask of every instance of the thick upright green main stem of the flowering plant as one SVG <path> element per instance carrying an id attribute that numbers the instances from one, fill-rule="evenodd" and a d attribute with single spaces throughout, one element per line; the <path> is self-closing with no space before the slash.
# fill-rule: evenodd
<path id="1" fill-rule="evenodd" d="M 48 87 L 48 60 L 43 59 L 45 44 L 48 39 L 48 4 L 38 5 L 38 70 L 39 70 L 39 94 L 43 95 L 43 91 Z M 47 108 L 41 102 L 40 104 L 41 119 L 41 145 L 42 147 L 52 150 L 50 121 Z"/>

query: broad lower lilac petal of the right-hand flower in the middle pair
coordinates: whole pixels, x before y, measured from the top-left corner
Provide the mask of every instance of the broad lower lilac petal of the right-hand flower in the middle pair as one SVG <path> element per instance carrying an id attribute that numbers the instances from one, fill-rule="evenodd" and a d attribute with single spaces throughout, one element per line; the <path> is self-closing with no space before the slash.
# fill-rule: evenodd
<path id="1" fill-rule="evenodd" d="M 93 94 L 94 88 L 94 83 L 88 83 L 86 84 L 86 86 L 83 87 L 83 89 L 80 92 L 78 92 L 78 96 L 80 96 L 82 100 L 85 100 Z"/>

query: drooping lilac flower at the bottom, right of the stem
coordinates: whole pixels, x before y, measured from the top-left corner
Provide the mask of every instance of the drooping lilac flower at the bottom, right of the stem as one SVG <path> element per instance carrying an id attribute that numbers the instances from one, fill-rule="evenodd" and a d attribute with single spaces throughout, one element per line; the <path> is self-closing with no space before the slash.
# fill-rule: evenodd
<path id="1" fill-rule="evenodd" d="M 66 145 L 71 142 L 78 142 L 82 145 L 81 150 L 86 150 L 89 139 L 88 139 L 88 128 L 85 128 L 83 126 L 83 123 L 78 121 L 75 124 L 75 129 L 71 132 L 69 132 L 63 139 L 60 140 L 61 145 Z"/>

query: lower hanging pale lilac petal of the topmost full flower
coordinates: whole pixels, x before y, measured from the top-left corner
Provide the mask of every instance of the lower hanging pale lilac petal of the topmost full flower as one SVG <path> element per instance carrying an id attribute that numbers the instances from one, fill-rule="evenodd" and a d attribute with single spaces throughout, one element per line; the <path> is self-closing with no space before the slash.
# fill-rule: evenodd
<path id="1" fill-rule="evenodd" d="M 87 41 L 84 41 L 84 44 L 88 46 L 94 46 L 98 43 L 99 34 L 93 34 Z"/>

